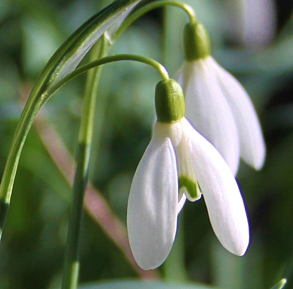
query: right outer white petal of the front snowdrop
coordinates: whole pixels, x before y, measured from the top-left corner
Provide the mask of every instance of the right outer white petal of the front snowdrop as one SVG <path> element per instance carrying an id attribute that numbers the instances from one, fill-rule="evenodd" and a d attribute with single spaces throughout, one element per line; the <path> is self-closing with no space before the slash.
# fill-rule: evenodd
<path id="1" fill-rule="evenodd" d="M 201 187 L 212 228 L 222 245 L 242 256 L 249 243 L 246 212 L 237 183 L 218 151 L 191 125 L 182 121 L 190 158 Z"/>

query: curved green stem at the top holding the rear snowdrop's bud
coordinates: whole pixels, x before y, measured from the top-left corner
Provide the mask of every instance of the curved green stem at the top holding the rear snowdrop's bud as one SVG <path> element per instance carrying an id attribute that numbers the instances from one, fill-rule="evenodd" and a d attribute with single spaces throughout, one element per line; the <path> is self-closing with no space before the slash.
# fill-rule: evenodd
<path id="1" fill-rule="evenodd" d="M 130 16 L 128 16 L 123 23 L 121 24 L 121 26 L 118 28 L 118 30 L 116 31 L 114 37 L 112 37 L 113 39 L 118 38 L 118 36 L 130 25 L 132 24 L 132 22 L 134 22 L 136 19 L 138 19 L 140 16 L 142 16 L 143 14 L 149 12 L 152 9 L 158 8 L 158 7 L 162 7 L 162 6 L 175 6 L 178 8 L 183 9 L 188 17 L 190 22 L 194 22 L 196 19 L 196 15 L 194 12 L 194 9 L 189 6 L 188 4 L 185 3 L 181 3 L 178 1 L 174 1 L 174 0 L 161 0 L 161 1 L 155 1 L 152 2 L 146 6 L 143 6 L 141 9 L 137 10 L 136 12 L 134 12 L 133 14 L 131 14 Z"/>

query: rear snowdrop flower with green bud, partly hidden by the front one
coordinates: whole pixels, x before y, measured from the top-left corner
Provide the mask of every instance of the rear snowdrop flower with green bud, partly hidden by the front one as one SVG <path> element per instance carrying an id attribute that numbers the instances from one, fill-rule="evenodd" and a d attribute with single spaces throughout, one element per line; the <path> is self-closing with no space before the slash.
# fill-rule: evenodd
<path id="1" fill-rule="evenodd" d="M 241 84 L 210 56 L 199 22 L 184 29 L 185 61 L 178 73 L 186 118 L 222 155 L 233 174 L 240 156 L 261 169 L 266 149 L 253 104 Z"/>

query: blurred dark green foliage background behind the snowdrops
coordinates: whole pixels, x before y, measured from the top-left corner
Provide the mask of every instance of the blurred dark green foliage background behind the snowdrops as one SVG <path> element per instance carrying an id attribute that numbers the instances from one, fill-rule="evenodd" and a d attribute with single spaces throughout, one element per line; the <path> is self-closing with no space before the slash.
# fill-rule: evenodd
<path id="1" fill-rule="evenodd" d="M 250 247 L 244 257 L 227 252 L 212 232 L 203 199 L 186 202 L 172 253 L 156 273 L 168 281 L 262 289 L 293 276 L 293 3 L 256 1 L 271 10 L 257 14 L 256 20 L 264 22 L 249 28 L 259 33 L 249 40 L 251 32 L 245 35 L 245 29 L 255 20 L 252 14 L 241 14 L 242 2 L 188 0 L 208 28 L 212 55 L 251 96 L 266 138 L 262 171 L 241 162 L 237 175 L 250 218 Z M 0 175 L 23 99 L 38 74 L 58 46 L 109 3 L 0 0 Z M 253 4 L 250 9 L 255 10 Z M 110 53 L 152 57 L 174 75 L 183 61 L 186 21 L 178 9 L 154 10 L 128 28 Z M 158 80 L 151 68 L 137 63 L 110 64 L 102 72 L 90 180 L 124 224 L 132 176 L 150 140 Z M 71 188 L 48 153 L 56 135 L 44 144 L 40 131 L 42 125 L 54 127 L 74 156 L 84 82 L 80 76 L 56 93 L 28 135 L 0 243 L 1 289 L 60 286 Z M 129 277 L 139 278 L 123 252 L 85 213 L 80 282 Z"/>

